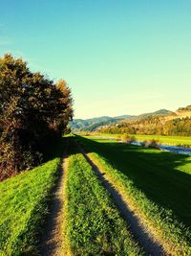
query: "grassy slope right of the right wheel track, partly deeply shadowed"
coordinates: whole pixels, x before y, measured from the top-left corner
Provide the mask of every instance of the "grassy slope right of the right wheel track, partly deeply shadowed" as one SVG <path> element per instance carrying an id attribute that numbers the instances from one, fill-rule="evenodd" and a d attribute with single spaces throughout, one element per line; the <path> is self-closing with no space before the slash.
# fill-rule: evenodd
<path id="1" fill-rule="evenodd" d="M 191 254 L 191 157 L 78 140 L 172 255 Z"/>

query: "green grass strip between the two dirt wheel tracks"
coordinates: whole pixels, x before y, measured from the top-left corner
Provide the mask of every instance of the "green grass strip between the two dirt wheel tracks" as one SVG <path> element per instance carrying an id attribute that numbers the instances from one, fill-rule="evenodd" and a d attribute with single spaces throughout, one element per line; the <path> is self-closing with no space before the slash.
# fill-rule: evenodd
<path id="1" fill-rule="evenodd" d="M 71 254 L 142 255 L 92 167 L 76 150 L 76 145 L 72 145 L 70 150 L 65 209 L 66 237 Z"/>

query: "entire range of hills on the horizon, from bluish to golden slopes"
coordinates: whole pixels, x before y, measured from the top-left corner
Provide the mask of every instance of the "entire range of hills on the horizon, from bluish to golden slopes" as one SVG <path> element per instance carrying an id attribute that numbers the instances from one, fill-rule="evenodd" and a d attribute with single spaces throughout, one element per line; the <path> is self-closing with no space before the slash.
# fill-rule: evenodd
<path id="1" fill-rule="evenodd" d="M 102 130 L 108 132 L 115 132 L 116 130 L 117 132 L 120 132 L 120 130 L 124 130 L 126 128 L 130 133 L 138 132 L 142 134 L 160 134 L 165 131 L 164 129 L 169 130 L 169 128 L 171 127 L 174 127 L 174 130 L 177 130 L 178 127 L 180 128 L 180 130 L 183 130 L 182 127 L 186 126 L 186 134 L 190 134 L 190 121 L 187 121 L 187 119 L 190 118 L 191 105 L 187 105 L 185 107 L 180 107 L 175 112 L 167 109 L 159 109 L 154 112 L 143 113 L 137 116 L 121 115 L 117 117 L 102 116 L 86 120 L 74 119 L 74 121 L 71 122 L 70 126 L 74 131 Z"/>

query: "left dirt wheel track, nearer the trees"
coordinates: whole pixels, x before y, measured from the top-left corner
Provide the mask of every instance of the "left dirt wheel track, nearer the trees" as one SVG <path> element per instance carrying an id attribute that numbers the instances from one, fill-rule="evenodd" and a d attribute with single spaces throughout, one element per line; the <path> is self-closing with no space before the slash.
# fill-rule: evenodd
<path id="1" fill-rule="evenodd" d="M 63 155 L 60 175 L 57 181 L 57 186 L 53 190 L 53 199 L 51 202 L 50 215 L 48 217 L 45 233 L 42 237 L 41 244 L 39 246 L 40 255 L 43 256 L 61 256 L 63 254 L 63 192 L 64 192 L 64 170 L 68 166 L 67 148 Z"/>

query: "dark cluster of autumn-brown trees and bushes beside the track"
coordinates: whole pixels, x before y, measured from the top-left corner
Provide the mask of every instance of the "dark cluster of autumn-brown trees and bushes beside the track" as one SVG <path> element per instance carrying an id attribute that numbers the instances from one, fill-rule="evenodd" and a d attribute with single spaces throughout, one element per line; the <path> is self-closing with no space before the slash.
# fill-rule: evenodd
<path id="1" fill-rule="evenodd" d="M 41 163 L 72 119 L 66 81 L 32 72 L 22 58 L 0 58 L 0 180 Z"/>

